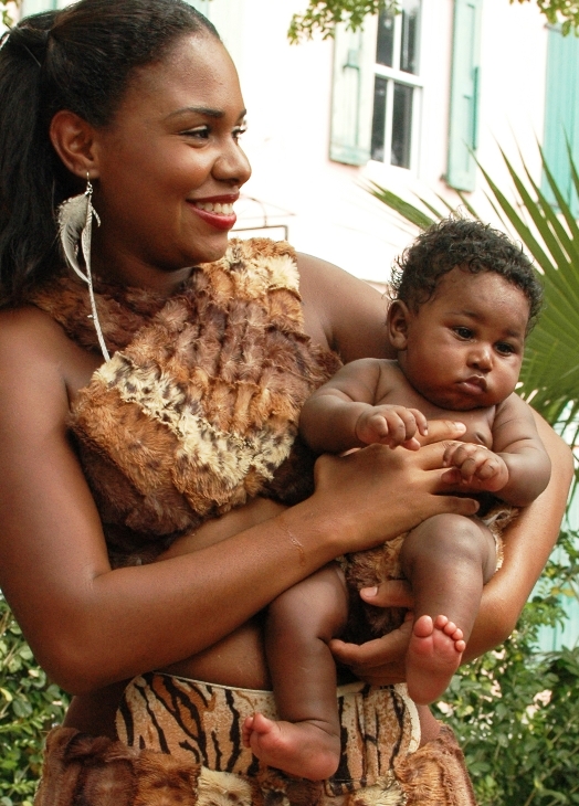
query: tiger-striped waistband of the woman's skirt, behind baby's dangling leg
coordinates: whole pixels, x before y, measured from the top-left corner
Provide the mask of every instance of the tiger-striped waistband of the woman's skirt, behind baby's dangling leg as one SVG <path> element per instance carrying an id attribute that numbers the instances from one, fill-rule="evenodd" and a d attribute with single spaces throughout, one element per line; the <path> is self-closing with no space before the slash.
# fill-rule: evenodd
<path id="1" fill-rule="evenodd" d="M 334 797 L 390 780 L 393 760 L 414 752 L 420 741 L 415 706 L 404 686 L 343 686 L 337 702 L 341 760 L 337 773 L 325 783 L 326 794 Z M 245 717 L 256 711 L 277 719 L 270 691 L 146 675 L 126 689 L 117 732 L 128 746 L 169 753 L 178 761 L 194 761 L 218 772 L 263 776 L 265 768 L 241 741 Z"/>

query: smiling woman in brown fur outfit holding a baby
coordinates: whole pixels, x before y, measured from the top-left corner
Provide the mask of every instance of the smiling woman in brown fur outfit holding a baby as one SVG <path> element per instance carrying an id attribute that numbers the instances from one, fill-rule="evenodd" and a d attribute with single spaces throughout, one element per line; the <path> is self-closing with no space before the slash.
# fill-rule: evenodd
<path id="1" fill-rule="evenodd" d="M 0 51 L 0 584 L 75 694 L 39 804 L 473 802 L 459 749 L 427 709 L 419 731 L 400 688 L 349 683 L 344 764 L 325 785 L 239 746 L 239 714 L 269 686 L 260 611 L 346 551 L 477 505 L 440 482 L 451 423 L 415 454 L 325 457 L 304 489 L 299 405 L 336 353 L 386 354 L 383 309 L 320 261 L 301 256 L 297 275 L 287 245 L 225 255 L 250 168 L 215 31 L 179 0 L 30 18 Z M 66 241 L 91 203 L 101 225 L 80 268 L 96 310 L 55 238 L 56 211 Z M 470 657 L 514 627 L 557 535 L 571 466 L 540 428 L 551 484 L 507 534 Z M 407 640 L 334 648 L 387 685 Z"/>

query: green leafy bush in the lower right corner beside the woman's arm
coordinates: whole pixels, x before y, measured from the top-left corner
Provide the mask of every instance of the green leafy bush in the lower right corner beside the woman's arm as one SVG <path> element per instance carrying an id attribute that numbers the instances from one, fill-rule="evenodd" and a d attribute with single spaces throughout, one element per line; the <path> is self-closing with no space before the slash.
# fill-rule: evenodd
<path id="1" fill-rule="evenodd" d="M 540 625 L 576 596 L 578 533 L 564 532 L 504 646 L 455 676 L 438 710 L 464 750 L 480 806 L 579 804 L 579 648 L 539 655 Z"/>

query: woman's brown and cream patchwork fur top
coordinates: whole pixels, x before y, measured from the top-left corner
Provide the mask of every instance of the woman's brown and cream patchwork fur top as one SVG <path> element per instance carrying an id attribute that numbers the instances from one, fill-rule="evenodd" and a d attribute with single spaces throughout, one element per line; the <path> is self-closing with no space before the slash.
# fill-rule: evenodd
<path id="1" fill-rule="evenodd" d="M 169 299 L 95 283 L 112 359 L 72 404 L 71 428 L 114 565 L 265 496 L 313 489 L 301 407 L 340 365 L 304 332 L 295 253 L 232 241 Z M 98 350 L 86 288 L 61 277 L 31 300 Z"/>

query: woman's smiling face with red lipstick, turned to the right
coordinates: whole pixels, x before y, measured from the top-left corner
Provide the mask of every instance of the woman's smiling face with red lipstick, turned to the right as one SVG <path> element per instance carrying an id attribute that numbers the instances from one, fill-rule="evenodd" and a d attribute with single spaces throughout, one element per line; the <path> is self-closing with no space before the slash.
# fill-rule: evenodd
<path id="1" fill-rule="evenodd" d="M 136 71 L 95 138 L 99 274 L 162 290 L 222 257 L 251 172 L 239 145 L 244 115 L 235 67 L 212 36 L 183 36 Z"/>

